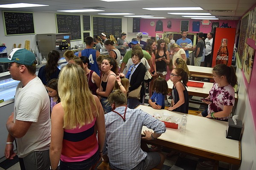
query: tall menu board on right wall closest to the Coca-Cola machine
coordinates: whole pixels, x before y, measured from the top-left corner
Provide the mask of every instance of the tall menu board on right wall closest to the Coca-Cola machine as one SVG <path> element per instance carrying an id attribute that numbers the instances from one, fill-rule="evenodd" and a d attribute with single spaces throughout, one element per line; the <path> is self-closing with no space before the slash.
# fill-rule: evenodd
<path id="1" fill-rule="evenodd" d="M 240 35 L 239 35 L 239 44 L 238 44 L 238 55 L 240 63 L 242 63 L 243 55 L 244 55 L 244 44 L 246 41 L 247 27 L 248 27 L 248 19 L 249 15 L 242 18 L 241 27 L 240 27 Z"/>

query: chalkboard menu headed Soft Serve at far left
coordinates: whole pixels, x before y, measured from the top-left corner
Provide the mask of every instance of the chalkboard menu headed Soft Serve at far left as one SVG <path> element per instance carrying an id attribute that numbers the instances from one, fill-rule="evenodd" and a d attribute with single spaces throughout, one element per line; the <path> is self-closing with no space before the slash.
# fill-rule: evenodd
<path id="1" fill-rule="evenodd" d="M 33 13 L 3 11 L 5 34 L 35 34 Z"/>

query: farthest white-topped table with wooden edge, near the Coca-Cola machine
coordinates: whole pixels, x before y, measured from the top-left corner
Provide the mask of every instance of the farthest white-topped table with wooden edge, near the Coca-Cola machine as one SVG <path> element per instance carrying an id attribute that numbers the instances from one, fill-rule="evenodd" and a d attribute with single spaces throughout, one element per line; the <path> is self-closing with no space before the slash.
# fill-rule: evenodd
<path id="1" fill-rule="evenodd" d="M 203 77 L 212 79 L 212 69 L 211 67 L 201 67 L 201 66 L 194 66 L 188 65 L 189 72 L 191 77 Z"/>

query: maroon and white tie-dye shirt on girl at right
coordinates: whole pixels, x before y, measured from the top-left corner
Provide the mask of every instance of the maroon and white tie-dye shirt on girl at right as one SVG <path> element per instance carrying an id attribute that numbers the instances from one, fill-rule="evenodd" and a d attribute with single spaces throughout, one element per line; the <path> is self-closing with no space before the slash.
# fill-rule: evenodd
<path id="1" fill-rule="evenodd" d="M 235 91 L 232 85 L 218 87 L 218 83 L 214 83 L 209 94 L 212 103 L 208 106 L 208 114 L 223 111 L 224 106 L 233 106 L 235 103 Z M 215 119 L 226 120 L 229 117 L 230 116 Z"/>

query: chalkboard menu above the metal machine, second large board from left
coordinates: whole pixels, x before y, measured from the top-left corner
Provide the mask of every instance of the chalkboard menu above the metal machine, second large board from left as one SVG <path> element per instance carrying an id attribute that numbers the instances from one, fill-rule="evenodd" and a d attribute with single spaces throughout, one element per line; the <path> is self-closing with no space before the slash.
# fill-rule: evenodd
<path id="1" fill-rule="evenodd" d="M 80 15 L 56 14 L 58 33 L 71 33 L 72 40 L 81 40 Z"/>

